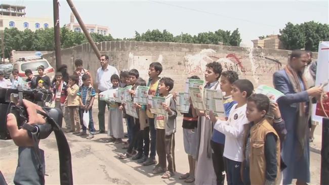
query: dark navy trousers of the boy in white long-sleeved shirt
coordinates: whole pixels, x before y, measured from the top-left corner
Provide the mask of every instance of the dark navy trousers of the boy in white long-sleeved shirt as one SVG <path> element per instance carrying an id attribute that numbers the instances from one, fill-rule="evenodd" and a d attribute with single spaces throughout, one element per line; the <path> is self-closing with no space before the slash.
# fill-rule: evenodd
<path id="1" fill-rule="evenodd" d="M 227 185 L 243 185 L 241 179 L 241 162 L 225 158 Z"/>

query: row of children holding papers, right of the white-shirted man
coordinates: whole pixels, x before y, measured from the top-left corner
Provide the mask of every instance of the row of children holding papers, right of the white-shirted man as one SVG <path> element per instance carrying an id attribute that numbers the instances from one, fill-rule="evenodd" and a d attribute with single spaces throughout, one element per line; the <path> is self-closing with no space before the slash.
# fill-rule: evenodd
<path id="1" fill-rule="evenodd" d="M 207 84 L 204 88 L 222 91 L 225 117 L 215 117 L 212 111 L 207 115 L 203 110 L 195 109 L 192 102 L 189 112 L 182 113 L 184 149 L 188 154 L 189 172 L 179 178 L 185 182 L 195 181 L 195 184 L 224 184 L 226 174 L 228 184 L 280 182 L 280 171 L 284 167 L 280 157 L 280 141 L 284 140 L 286 131 L 278 105 L 270 103 L 265 95 L 253 94 L 252 82 L 238 79 L 236 72 L 222 72 L 220 63 L 212 62 L 206 67 Z M 162 106 L 167 115 L 153 115 L 149 111 L 151 105 L 135 103 L 138 118 L 134 118 L 125 114 L 124 104 L 110 105 L 109 136 L 111 142 L 122 141 L 123 111 L 128 126 L 129 145 L 119 158 L 132 157 L 144 165 L 146 161 L 146 165 L 156 164 L 155 155 L 149 154 L 154 147 L 158 164 L 152 172 L 163 173 L 162 178 L 170 178 L 176 171 L 174 149 L 177 94 L 171 93 L 174 87 L 171 78 L 158 77 L 161 72 L 161 64 L 152 63 L 148 83 L 139 77 L 136 69 L 129 71 L 128 77 L 127 74 L 111 77 L 112 88 L 133 85 L 130 91 L 132 99 L 137 86 L 150 86 L 149 95 L 166 98 Z M 190 78 L 199 79 L 197 76 Z"/>

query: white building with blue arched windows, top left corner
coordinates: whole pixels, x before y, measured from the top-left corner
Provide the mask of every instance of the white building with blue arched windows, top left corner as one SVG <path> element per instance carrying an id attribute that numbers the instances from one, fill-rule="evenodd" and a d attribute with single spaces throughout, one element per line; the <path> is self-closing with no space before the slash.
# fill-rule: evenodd
<path id="1" fill-rule="evenodd" d="M 0 5 L 0 29 L 17 28 L 20 31 L 54 27 L 53 18 L 25 17 L 25 6 Z"/>

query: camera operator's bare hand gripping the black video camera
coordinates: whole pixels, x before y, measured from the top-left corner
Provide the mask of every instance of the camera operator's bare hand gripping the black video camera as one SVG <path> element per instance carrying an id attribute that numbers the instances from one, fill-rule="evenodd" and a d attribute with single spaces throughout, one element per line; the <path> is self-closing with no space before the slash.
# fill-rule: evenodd
<path id="1" fill-rule="evenodd" d="M 27 124 L 45 124 L 45 118 L 36 113 L 36 110 L 43 111 L 43 109 L 33 104 L 30 101 L 23 100 L 23 104 L 26 108 L 27 115 L 28 115 L 28 122 Z M 32 138 L 28 136 L 27 130 L 21 128 L 18 129 L 17 120 L 14 114 L 8 114 L 7 116 L 7 128 L 9 131 L 10 136 L 12 137 L 13 141 L 18 147 L 30 147 L 33 146 Z"/>

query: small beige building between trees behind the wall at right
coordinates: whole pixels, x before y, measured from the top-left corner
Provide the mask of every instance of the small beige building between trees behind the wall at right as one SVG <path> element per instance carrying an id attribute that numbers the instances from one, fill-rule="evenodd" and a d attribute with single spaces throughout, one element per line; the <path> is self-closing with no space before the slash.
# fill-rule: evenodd
<path id="1" fill-rule="evenodd" d="M 268 35 L 266 38 L 252 41 L 254 43 L 254 48 L 283 49 L 282 42 L 278 35 Z"/>

